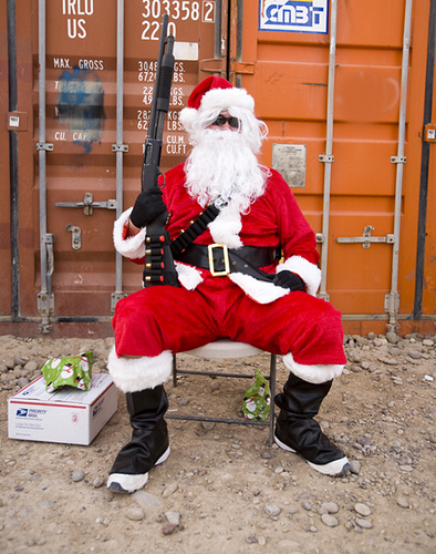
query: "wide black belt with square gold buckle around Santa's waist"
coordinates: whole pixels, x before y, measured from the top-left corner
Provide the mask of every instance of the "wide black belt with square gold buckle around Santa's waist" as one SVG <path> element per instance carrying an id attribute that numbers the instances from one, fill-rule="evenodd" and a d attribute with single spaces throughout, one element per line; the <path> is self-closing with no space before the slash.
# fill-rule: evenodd
<path id="1" fill-rule="evenodd" d="M 273 275 L 268 275 L 259 267 L 271 265 L 276 256 L 274 249 L 266 246 L 242 246 L 233 249 L 222 244 L 191 244 L 176 259 L 191 266 L 209 269 L 214 277 L 222 277 L 238 271 L 271 283 Z"/>

